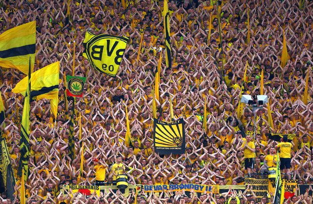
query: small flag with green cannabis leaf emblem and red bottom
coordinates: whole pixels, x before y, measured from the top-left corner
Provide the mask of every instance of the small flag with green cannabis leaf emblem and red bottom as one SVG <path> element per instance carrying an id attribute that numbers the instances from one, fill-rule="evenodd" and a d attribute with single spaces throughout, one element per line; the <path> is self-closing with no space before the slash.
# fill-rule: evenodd
<path id="1" fill-rule="evenodd" d="M 86 77 L 66 75 L 66 81 L 67 81 L 66 93 L 68 96 L 76 97 L 83 96 Z"/>

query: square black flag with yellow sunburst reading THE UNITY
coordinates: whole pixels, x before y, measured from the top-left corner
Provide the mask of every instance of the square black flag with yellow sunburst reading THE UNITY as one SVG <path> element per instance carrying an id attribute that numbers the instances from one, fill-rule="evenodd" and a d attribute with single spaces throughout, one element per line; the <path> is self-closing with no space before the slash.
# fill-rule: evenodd
<path id="1" fill-rule="evenodd" d="M 154 151 L 162 154 L 185 153 L 185 122 L 181 118 L 171 122 L 153 119 Z"/>

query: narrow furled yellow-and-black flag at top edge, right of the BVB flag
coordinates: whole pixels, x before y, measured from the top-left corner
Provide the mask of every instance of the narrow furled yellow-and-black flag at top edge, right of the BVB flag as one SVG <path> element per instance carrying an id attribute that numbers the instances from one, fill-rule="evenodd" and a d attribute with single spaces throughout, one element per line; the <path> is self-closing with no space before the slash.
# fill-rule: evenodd
<path id="1" fill-rule="evenodd" d="M 165 34 L 165 60 L 168 68 L 172 67 L 171 47 L 170 47 L 170 25 L 169 25 L 169 3 L 164 0 L 162 16 L 164 18 L 164 34 Z"/>

